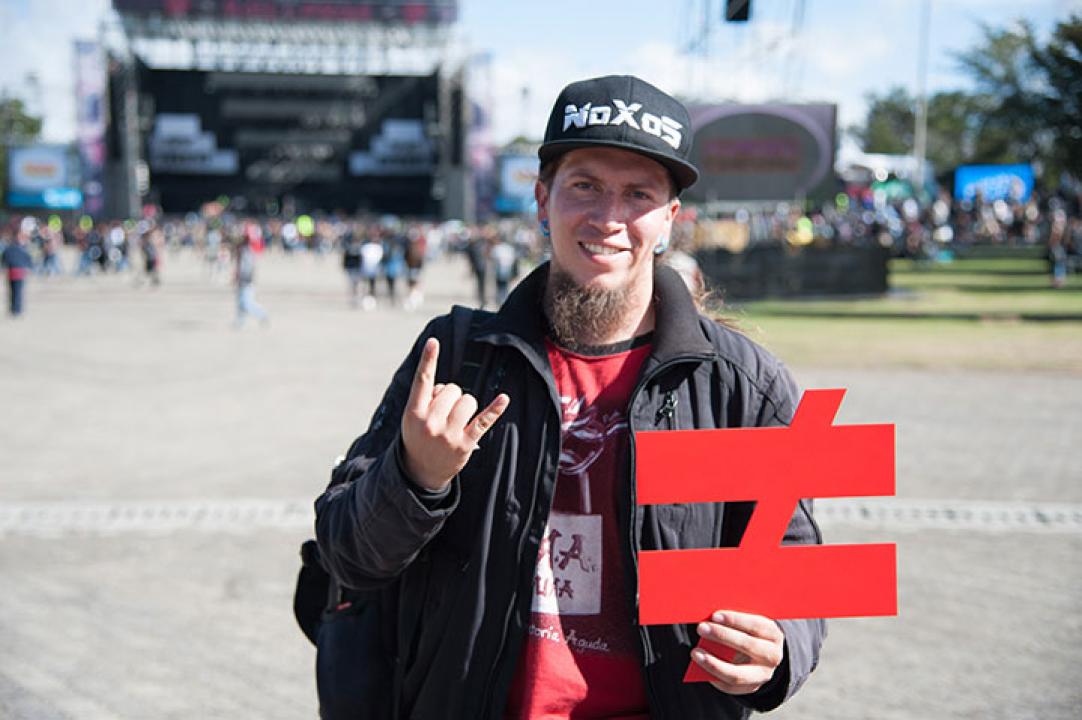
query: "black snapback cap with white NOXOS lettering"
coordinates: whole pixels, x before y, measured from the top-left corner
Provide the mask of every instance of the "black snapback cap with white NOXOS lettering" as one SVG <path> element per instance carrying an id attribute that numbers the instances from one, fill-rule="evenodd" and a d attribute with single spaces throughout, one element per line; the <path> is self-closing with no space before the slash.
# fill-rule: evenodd
<path id="1" fill-rule="evenodd" d="M 675 97 L 630 75 L 572 82 L 556 99 L 538 149 L 541 161 L 580 147 L 618 147 L 657 160 L 678 191 L 695 184 L 691 119 Z"/>

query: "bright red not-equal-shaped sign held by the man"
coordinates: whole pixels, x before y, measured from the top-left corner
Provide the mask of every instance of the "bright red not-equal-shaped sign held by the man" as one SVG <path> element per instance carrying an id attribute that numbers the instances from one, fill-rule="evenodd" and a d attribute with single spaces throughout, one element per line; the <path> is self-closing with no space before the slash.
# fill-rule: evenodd
<path id="1" fill-rule="evenodd" d="M 641 624 L 897 614 L 893 544 L 781 545 L 801 498 L 894 495 L 894 426 L 831 424 L 844 394 L 809 390 L 788 428 L 636 433 L 638 505 L 755 502 L 736 548 L 639 553 Z M 691 663 L 685 682 L 709 679 Z"/>

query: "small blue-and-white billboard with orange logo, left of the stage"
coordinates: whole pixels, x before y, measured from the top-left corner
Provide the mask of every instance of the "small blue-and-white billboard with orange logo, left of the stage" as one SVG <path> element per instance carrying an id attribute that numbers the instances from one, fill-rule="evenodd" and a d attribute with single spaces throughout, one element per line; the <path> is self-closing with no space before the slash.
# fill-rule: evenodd
<path id="1" fill-rule="evenodd" d="M 77 168 L 65 145 L 9 148 L 8 207 L 78 210 L 82 192 Z"/>

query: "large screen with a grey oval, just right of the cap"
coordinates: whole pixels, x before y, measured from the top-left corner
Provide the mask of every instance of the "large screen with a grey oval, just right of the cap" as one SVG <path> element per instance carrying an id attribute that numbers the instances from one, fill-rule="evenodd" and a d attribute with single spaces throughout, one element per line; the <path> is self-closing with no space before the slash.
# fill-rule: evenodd
<path id="1" fill-rule="evenodd" d="M 837 108 L 829 104 L 690 108 L 691 200 L 829 198 L 834 194 Z"/>

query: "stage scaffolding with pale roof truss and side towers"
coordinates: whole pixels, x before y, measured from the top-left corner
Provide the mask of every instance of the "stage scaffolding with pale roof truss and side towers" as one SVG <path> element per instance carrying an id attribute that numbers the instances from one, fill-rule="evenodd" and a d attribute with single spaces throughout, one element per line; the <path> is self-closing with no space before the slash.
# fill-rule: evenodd
<path id="1" fill-rule="evenodd" d="M 443 218 L 473 217 L 472 183 L 462 148 L 466 126 L 463 114 L 469 108 L 462 87 L 467 53 L 457 39 L 457 3 L 412 3 L 410 11 L 404 3 L 385 2 L 373 5 L 381 19 L 365 21 L 216 16 L 230 4 L 228 0 L 192 3 L 203 12 L 202 16 L 167 16 L 161 11 L 169 4 L 114 0 L 116 12 L 101 30 L 102 44 L 110 58 L 110 82 L 115 84 L 110 107 L 118 153 L 116 167 L 109 172 L 114 214 L 135 217 L 155 199 L 146 142 L 154 121 L 153 108 L 146 107 L 140 87 L 141 77 L 149 69 L 213 73 L 251 92 L 262 83 L 268 92 L 278 93 L 291 82 L 318 90 L 320 78 L 330 88 L 345 77 L 361 81 L 384 76 L 436 76 L 436 112 L 426 112 L 423 120 L 425 135 L 435 148 L 426 187 L 431 201 L 425 207 L 438 207 Z M 176 4 L 172 3 L 174 9 Z M 303 0 L 262 3 L 290 13 L 304 4 Z M 156 6 L 155 11 L 147 11 L 150 5 Z M 428 8 L 427 18 L 390 16 L 391 11 L 415 12 L 421 5 Z"/>

